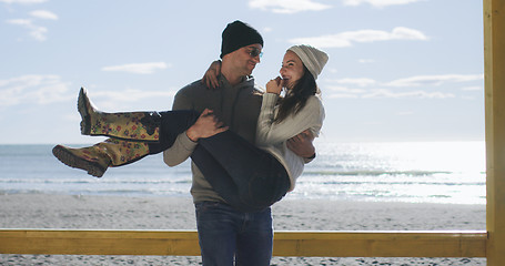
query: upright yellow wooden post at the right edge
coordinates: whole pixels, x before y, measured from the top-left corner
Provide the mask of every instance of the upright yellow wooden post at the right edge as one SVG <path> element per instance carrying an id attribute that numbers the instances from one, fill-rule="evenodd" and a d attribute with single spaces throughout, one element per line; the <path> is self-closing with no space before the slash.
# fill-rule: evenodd
<path id="1" fill-rule="evenodd" d="M 487 265 L 505 262 L 505 1 L 484 0 Z"/>

